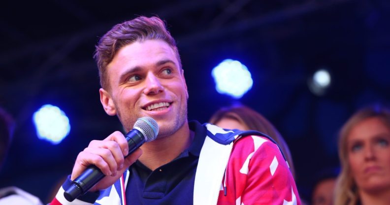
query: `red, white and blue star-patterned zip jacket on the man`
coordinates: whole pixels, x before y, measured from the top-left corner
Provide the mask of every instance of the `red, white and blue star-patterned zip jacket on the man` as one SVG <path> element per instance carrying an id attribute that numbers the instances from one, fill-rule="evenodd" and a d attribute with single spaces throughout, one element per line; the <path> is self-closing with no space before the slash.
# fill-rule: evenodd
<path id="1" fill-rule="evenodd" d="M 207 136 L 195 174 L 194 205 L 300 205 L 289 166 L 277 144 L 257 131 L 225 130 L 204 124 Z M 126 205 L 129 171 L 100 191 L 95 204 Z M 68 202 L 61 188 L 50 205 Z"/>

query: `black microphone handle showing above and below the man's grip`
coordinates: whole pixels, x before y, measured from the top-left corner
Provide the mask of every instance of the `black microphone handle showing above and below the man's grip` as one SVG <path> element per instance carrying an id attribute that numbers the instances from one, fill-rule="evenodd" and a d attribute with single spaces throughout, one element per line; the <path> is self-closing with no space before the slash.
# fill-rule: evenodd
<path id="1" fill-rule="evenodd" d="M 139 130 L 132 129 L 128 134 L 126 134 L 126 140 L 129 145 L 129 154 L 127 155 L 129 156 L 145 142 L 145 137 Z M 80 195 L 87 193 L 88 190 L 95 186 L 97 182 L 104 178 L 104 176 L 103 172 L 101 172 L 95 165 L 89 166 L 76 179 L 74 179 L 70 187 L 65 190 L 65 199 L 68 202 L 73 202 L 73 200 Z"/>

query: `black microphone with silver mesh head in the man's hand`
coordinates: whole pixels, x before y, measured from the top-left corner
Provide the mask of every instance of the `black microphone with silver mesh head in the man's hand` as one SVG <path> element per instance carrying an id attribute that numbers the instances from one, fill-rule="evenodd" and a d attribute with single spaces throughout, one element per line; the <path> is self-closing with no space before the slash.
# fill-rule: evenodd
<path id="1" fill-rule="evenodd" d="M 159 126 L 156 120 L 151 117 L 138 118 L 133 129 L 126 134 L 129 144 L 129 154 L 139 148 L 144 142 L 156 139 L 159 133 Z M 71 186 L 65 191 L 64 197 L 68 202 L 72 202 L 80 195 L 84 195 L 97 182 L 104 178 L 103 172 L 95 165 L 88 167 L 80 176 L 72 181 Z"/>

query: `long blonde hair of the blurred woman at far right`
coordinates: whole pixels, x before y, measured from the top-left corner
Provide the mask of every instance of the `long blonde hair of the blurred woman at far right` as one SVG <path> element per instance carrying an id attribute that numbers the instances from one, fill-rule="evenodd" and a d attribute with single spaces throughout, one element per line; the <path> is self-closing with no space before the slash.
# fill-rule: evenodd
<path id="1" fill-rule="evenodd" d="M 341 172 L 336 182 L 335 205 L 356 205 L 359 201 L 358 187 L 351 175 L 351 167 L 348 162 L 348 135 L 358 123 L 373 117 L 381 119 L 384 125 L 390 128 L 390 110 L 380 105 L 374 105 L 358 110 L 340 130 L 338 154 Z"/>

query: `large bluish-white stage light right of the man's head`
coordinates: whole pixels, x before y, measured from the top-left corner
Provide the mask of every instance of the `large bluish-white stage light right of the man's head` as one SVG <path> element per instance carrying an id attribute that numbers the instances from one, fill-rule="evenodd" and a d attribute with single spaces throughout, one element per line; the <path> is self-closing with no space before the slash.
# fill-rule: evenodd
<path id="1" fill-rule="evenodd" d="M 218 93 L 230 95 L 235 99 L 241 98 L 253 85 L 248 68 L 231 59 L 226 59 L 213 68 L 211 75 Z"/>

